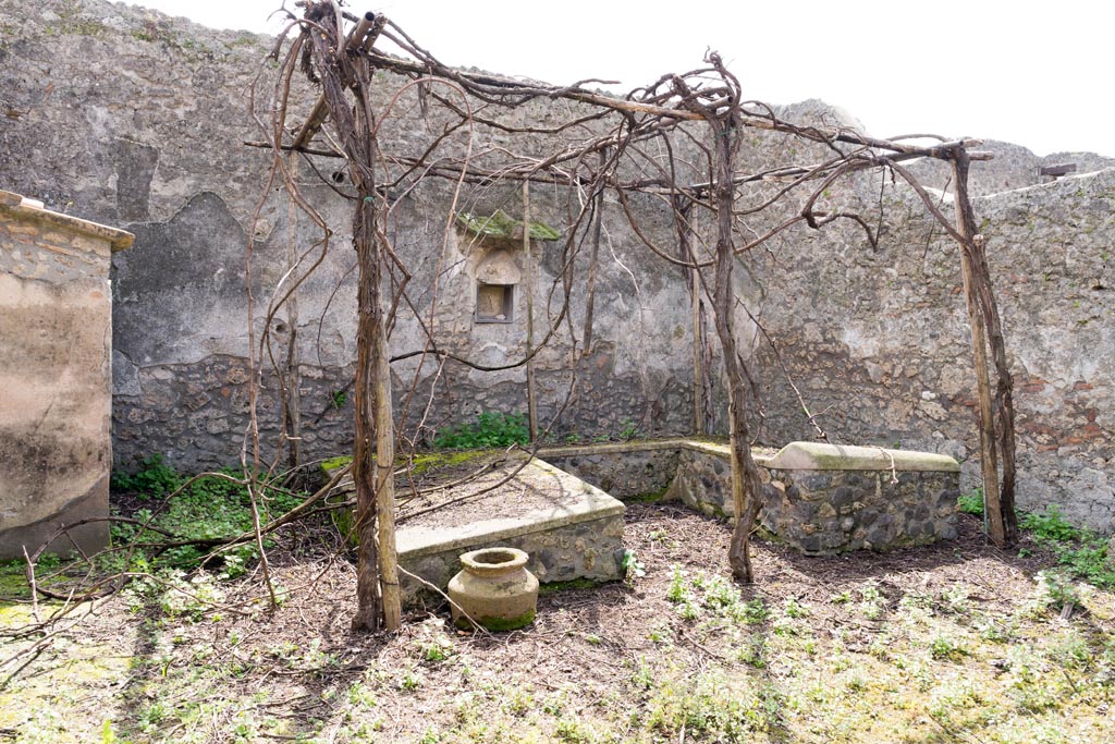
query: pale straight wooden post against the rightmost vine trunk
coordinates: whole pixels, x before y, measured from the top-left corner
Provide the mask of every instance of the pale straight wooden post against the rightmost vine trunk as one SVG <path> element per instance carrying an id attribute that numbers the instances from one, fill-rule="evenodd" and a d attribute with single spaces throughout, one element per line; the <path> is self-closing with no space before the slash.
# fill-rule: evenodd
<path id="1" fill-rule="evenodd" d="M 1002 504 L 999 499 L 999 460 L 995 437 L 995 413 L 991 405 L 991 381 L 987 365 L 987 328 L 980 300 L 975 287 L 975 215 L 968 199 L 968 153 L 960 147 L 952 160 L 956 181 L 957 232 L 963 238 L 960 263 L 963 274 L 964 302 L 968 307 L 968 326 L 971 329 L 972 360 L 976 367 L 977 397 L 979 400 L 980 470 L 983 475 L 983 513 L 988 519 L 991 542 L 1000 548 L 1006 544 Z"/>

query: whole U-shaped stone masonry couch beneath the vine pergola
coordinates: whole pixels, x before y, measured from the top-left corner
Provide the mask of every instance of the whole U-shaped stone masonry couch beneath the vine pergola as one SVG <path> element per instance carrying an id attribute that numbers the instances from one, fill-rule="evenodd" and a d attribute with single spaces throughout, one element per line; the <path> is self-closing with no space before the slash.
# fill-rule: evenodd
<path id="1" fill-rule="evenodd" d="M 763 529 L 803 553 L 888 550 L 957 535 L 960 465 L 951 457 L 795 442 L 755 458 L 765 485 Z M 460 553 L 505 545 L 526 551 L 543 583 L 619 579 L 624 506 L 618 499 L 678 500 L 729 519 L 730 479 L 728 447 L 714 442 L 545 448 L 471 514 L 400 525 L 399 563 L 444 590 Z M 438 600 L 409 577 L 403 584 L 409 602 Z"/>

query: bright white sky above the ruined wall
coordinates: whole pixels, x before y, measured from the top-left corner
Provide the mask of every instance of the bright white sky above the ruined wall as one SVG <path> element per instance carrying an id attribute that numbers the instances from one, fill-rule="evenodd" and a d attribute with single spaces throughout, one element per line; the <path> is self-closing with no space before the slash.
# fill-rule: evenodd
<path id="1" fill-rule="evenodd" d="M 287 0 L 293 7 L 293 0 Z M 215 28 L 274 32 L 281 0 L 130 4 Z M 876 136 L 931 132 L 1115 156 L 1115 6 L 1103 0 L 352 0 L 443 61 L 623 89 L 720 52 L 748 97 L 822 98 Z"/>

